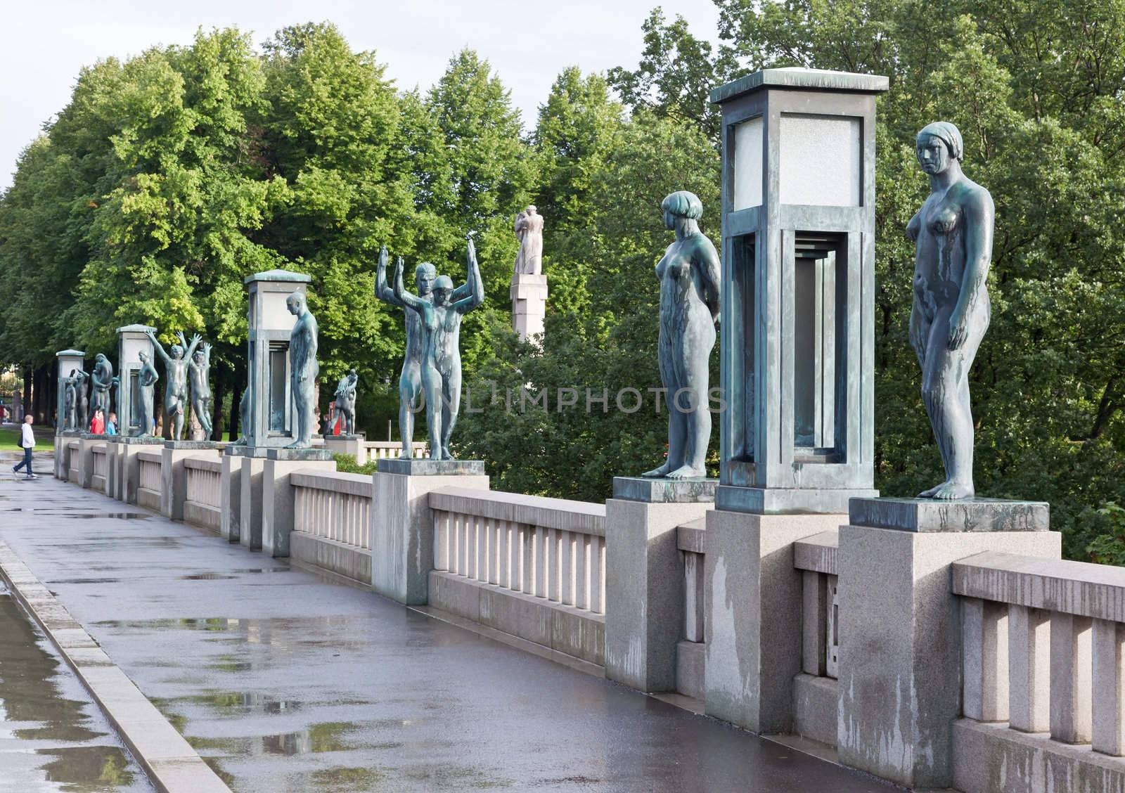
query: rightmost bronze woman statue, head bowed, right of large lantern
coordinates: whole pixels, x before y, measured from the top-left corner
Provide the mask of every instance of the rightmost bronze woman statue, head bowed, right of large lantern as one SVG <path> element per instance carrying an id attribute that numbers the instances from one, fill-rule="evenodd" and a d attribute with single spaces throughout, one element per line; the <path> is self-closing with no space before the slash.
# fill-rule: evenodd
<path id="1" fill-rule="evenodd" d="M 948 121 L 922 128 L 917 156 L 929 197 L 907 224 L 915 243 L 910 345 L 921 364 L 921 396 L 945 465 L 945 481 L 920 498 L 972 498 L 973 417 L 969 371 L 988 330 L 992 196 L 961 171 L 965 145 Z"/>

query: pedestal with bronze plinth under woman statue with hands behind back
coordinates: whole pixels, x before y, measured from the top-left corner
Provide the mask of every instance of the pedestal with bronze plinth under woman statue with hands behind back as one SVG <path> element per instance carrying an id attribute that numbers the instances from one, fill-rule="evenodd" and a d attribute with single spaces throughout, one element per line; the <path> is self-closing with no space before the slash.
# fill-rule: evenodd
<path id="1" fill-rule="evenodd" d="M 714 479 L 613 477 L 605 502 L 605 676 L 676 691 L 685 600 L 677 529 L 714 508 Z"/>

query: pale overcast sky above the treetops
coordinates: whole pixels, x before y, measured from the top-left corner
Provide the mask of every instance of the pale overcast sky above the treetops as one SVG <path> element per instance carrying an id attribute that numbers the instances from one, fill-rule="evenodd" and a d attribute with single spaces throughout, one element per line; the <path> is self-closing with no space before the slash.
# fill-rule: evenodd
<path id="1" fill-rule="evenodd" d="M 641 22 L 657 4 L 714 38 L 711 0 L 0 0 L 0 190 L 83 65 L 189 44 L 200 26 L 235 25 L 260 43 L 286 25 L 330 20 L 353 48 L 375 49 L 399 88 L 428 88 L 468 45 L 500 73 L 528 125 L 566 66 L 636 66 Z"/>

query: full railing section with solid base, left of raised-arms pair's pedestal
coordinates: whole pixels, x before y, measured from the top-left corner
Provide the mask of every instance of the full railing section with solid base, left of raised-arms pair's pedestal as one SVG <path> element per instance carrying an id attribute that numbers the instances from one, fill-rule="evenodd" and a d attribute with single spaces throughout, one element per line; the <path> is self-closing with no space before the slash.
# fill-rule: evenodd
<path id="1" fill-rule="evenodd" d="M 289 555 L 371 583 L 371 477 L 316 469 L 289 475 L 294 492 Z"/>

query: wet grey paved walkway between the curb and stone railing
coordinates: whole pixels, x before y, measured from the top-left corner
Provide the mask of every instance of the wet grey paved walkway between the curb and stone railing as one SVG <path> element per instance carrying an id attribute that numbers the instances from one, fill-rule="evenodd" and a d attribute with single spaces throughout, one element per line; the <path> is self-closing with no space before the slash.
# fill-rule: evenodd
<path id="1" fill-rule="evenodd" d="M 51 477 L 0 539 L 240 793 L 891 790 Z"/>

